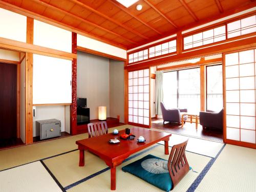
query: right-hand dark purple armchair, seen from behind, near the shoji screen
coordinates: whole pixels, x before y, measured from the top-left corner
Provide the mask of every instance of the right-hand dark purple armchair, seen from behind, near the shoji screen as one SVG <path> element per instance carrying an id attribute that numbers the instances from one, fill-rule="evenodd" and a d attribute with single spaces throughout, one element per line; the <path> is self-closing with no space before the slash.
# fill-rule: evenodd
<path id="1" fill-rule="evenodd" d="M 219 131 L 223 130 L 223 110 L 220 112 L 200 112 L 200 124 L 207 128 L 215 128 Z"/>

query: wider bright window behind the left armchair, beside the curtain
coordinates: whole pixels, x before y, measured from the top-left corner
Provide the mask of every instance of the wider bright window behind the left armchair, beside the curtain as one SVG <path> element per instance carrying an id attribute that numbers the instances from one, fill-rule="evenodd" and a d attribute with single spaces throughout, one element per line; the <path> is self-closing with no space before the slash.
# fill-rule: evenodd
<path id="1" fill-rule="evenodd" d="M 164 73 L 164 103 L 167 108 L 186 108 L 188 113 L 200 111 L 200 68 Z"/>

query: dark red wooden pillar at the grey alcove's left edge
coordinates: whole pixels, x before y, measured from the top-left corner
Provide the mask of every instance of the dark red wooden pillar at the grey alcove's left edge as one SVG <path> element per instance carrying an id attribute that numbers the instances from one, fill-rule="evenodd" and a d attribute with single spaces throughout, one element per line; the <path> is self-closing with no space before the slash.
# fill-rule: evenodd
<path id="1" fill-rule="evenodd" d="M 77 34 L 72 32 L 72 53 L 77 54 Z M 71 135 L 77 134 L 76 108 L 77 108 L 77 59 L 72 61 L 72 103 L 70 107 L 70 127 Z"/>

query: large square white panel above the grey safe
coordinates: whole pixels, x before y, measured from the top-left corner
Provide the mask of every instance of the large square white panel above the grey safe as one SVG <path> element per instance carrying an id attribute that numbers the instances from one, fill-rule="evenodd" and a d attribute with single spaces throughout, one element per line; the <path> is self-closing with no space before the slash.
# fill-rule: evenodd
<path id="1" fill-rule="evenodd" d="M 71 103 L 72 61 L 33 56 L 33 104 Z"/>

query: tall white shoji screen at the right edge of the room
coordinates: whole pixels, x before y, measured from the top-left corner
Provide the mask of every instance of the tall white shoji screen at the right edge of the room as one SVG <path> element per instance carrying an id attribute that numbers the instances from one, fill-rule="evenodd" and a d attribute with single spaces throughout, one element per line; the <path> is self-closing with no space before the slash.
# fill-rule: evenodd
<path id="1" fill-rule="evenodd" d="M 255 53 L 225 54 L 226 139 L 255 144 Z"/>

